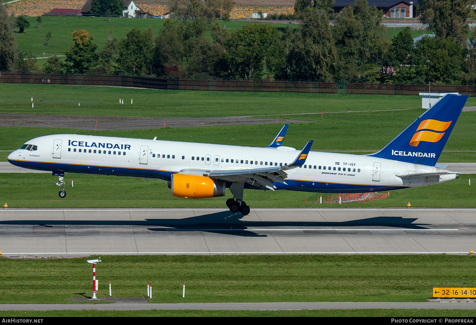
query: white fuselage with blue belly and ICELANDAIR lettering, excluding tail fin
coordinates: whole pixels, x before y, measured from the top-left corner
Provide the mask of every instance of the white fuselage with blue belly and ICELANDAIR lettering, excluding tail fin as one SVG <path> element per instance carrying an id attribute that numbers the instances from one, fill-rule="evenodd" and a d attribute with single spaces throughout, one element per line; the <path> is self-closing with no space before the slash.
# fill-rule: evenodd
<path id="1" fill-rule="evenodd" d="M 289 147 L 257 148 L 77 134 L 56 134 L 30 140 L 30 150 L 18 149 L 11 163 L 52 172 L 159 178 L 184 169 L 207 171 L 253 169 L 292 163 L 299 151 Z M 434 166 L 366 155 L 310 152 L 302 167 L 286 171 L 277 189 L 327 193 L 388 191 L 447 182 L 456 174 L 402 179 L 397 175 L 449 172 Z M 254 188 L 247 185 L 247 188 Z"/>

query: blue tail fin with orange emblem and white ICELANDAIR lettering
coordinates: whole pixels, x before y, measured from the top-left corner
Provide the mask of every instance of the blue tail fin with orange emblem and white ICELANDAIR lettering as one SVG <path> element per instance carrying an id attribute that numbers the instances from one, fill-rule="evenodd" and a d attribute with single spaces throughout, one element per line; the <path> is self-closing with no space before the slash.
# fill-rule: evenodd
<path id="1" fill-rule="evenodd" d="M 435 166 L 467 99 L 444 96 L 385 148 L 368 156 Z"/>

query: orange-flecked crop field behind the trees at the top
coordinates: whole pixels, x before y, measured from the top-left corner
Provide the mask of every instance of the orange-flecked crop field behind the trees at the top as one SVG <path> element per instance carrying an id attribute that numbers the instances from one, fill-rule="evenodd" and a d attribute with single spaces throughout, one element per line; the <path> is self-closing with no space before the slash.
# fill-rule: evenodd
<path id="1" fill-rule="evenodd" d="M 45 12 L 49 12 L 54 8 L 69 8 L 69 9 L 81 9 L 84 6 L 86 0 L 21 0 L 18 2 L 10 3 L 8 11 L 14 16 L 40 16 Z M 249 1 L 251 2 L 251 1 Z M 268 1 L 269 2 L 269 1 Z M 279 1 L 278 1 L 279 2 Z M 167 5 L 163 2 L 152 2 L 140 0 L 136 1 L 136 4 L 140 9 L 151 13 L 154 16 L 163 16 L 167 13 Z M 294 7 L 272 7 L 272 6 L 249 6 L 249 5 L 237 5 L 231 11 L 231 19 L 246 19 L 247 16 L 251 17 L 253 12 L 266 12 L 268 15 L 272 13 L 280 14 L 292 14 L 294 13 Z"/>

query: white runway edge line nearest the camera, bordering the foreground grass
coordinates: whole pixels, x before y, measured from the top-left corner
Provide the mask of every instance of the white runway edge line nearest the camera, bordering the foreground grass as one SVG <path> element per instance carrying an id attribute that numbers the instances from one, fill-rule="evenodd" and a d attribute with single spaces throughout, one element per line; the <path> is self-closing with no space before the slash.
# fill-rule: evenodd
<path id="1" fill-rule="evenodd" d="M 223 254 L 464 254 L 468 255 L 468 252 L 76 252 L 76 253 L 15 253 L 15 252 L 3 252 L 3 256 L 8 255 L 223 255 Z"/>

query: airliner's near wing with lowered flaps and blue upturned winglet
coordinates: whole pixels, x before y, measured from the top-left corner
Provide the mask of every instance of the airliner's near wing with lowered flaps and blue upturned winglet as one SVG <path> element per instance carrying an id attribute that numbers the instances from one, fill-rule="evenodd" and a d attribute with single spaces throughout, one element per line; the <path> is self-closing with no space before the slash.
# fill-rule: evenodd
<path id="1" fill-rule="evenodd" d="M 249 168 L 235 170 L 202 170 L 186 169 L 181 173 L 202 174 L 203 176 L 217 179 L 225 182 L 246 182 L 263 190 L 272 190 L 276 188 L 274 182 L 280 182 L 288 185 L 284 180 L 288 177 L 287 170 L 302 166 L 306 162 L 307 154 L 311 149 L 312 141 L 309 141 L 304 149 L 297 155 L 294 162 L 284 166 L 270 166 L 264 168 Z"/>

